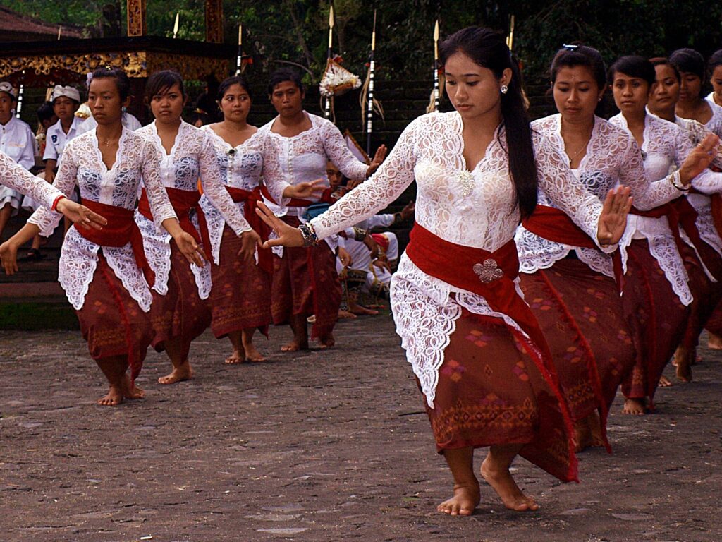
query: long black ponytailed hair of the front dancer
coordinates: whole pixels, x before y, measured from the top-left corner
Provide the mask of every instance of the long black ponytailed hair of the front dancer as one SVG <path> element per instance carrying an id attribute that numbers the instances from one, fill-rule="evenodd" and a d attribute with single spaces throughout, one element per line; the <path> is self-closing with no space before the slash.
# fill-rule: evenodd
<path id="1" fill-rule="evenodd" d="M 439 48 L 441 64 L 453 53 L 461 52 L 479 66 L 490 69 L 501 78 L 505 69 L 512 72 L 507 93 L 501 95 L 501 114 L 506 132 L 505 152 L 509 157 L 509 174 L 516 189 L 516 204 L 521 218 L 536 207 L 536 160 L 531 140 L 529 116 L 521 95 L 519 66 L 512 59 L 503 35 L 488 28 L 468 27 L 450 35 Z"/>

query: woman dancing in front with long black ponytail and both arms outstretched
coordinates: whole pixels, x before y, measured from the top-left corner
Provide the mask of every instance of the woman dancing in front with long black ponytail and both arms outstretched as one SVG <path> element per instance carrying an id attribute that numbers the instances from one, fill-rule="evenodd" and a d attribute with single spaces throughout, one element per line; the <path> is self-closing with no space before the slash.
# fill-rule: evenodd
<path id="1" fill-rule="evenodd" d="M 599 244 L 625 228 L 629 190 L 599 199 L 573 182 L 559 152 L 531 132 L 519 72 L 503 36 L 479 27 L 440 47 L 456 111 L 431 113 L 401 135 L 378 173 L 323 215 L 293 228 L 266 207 L 279 236 L 266 246 L 313 246 L 373 215 L 417 180 L 417 225 L 391 284 L 391 306 L 435 436 L 453 474 L 438 509 L 471 515 L 481 473 L 506 507 L 539 505 L 513 480 L 516 455 L 563 481 L 577 477 L 571 423 L 543 335 L 516 290 L 514 232 L 537 183 Z"/>

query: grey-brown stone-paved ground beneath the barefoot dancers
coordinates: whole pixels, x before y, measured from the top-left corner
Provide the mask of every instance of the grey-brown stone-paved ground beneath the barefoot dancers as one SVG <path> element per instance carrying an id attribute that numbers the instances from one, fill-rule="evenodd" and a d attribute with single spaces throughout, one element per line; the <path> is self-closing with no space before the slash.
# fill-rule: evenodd
<path id="1" fill-rule="evenodd" d="M 1 332 L 0 541 L 722 540 L 722 353 L 702 350 L 654 415 L 617 400 L 614 454 L 581 454 L 581 483 L 519 460 L 539 512 L 484 487 L 458 518 L 435 512 L 451 479 L 391 318 L 342 322 L 329 351 L 277 353 L 288 337 L 258 341 L 267 363 L 225 366 L 206 332 L 196 378 L 170 387 L 151 353 L 146 400 L 107 408 L 79 332 Z"/>

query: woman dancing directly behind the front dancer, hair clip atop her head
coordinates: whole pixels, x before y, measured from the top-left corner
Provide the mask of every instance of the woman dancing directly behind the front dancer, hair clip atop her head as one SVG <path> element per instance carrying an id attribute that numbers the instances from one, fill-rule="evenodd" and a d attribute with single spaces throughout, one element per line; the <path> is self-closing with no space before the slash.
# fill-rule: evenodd
<path id="1" fill-rule="evenodd" d="M 679 197 L 666 179 L 650 184 L 634 139 L 596 116 L 606 90 L 606 66 L 599 51 L 587 46 L 562 48 L 550 72 L 559 113 L 531 126 L 557 147 L 578 185 L 604 198 L 609 189 L 625 184 L 643 209 Z M 575 421 L 577 450 L 593 444 L 609 447 L 606 415 L 619 383 L 635 363 L 632 333 L 622 311 L 612 258 L 587 236 L 573 238 L 578 228 L 558 217 L 559 210 L 549 209 L 554 207 L 550 195 L 540 190 L 543 207 L 537 207 L 516 234 L 521 288 L 552 348 Z M 618 274 L 620 270 L 617 265 Z"/>

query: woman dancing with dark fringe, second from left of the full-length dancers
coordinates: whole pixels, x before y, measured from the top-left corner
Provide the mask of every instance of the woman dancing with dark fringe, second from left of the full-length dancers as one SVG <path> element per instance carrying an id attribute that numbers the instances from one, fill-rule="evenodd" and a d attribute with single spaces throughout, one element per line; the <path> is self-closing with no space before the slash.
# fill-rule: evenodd
<path id="1" fill-rule="evenodd" d="M 200 178 L 209 207 L 216 210 L 238 238 L 234 256 L 252 262 L 260 238 L 222 184 L 209 134 L 181 119 L 186 94 L 180 74 L 170 70 L 152 74 L 146 85 L 146 97 L 155 121 L 137 133 L 155 147 L 161 181 L 181 227 L 201 244 L 206 259 L 211 259 L 209 228 L 199 205 Z M 146 257 L 155 272 L 150 311 L 155 329 L 152 345 L 159 352 L 165 350 L 173 364 L 173 371 L 158 382 L 173 384 L 193 376 L 188 352 L 193 339 L 211 322 L 206 303 L 211 292 L 211 270 L 207 265 L 189 265 L 178 246 L 171 243 L 170 235 L 155 227 L 147 192 L 140 198 L 136 222 L 143 233 Z"/>

